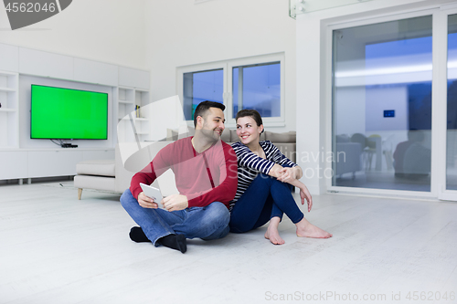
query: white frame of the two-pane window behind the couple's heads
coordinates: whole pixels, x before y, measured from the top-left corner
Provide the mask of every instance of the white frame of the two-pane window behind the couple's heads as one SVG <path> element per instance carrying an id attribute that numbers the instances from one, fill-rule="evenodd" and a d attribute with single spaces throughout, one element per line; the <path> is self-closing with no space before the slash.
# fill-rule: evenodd
<path id="1" fill-rule="evenodd" d="M 262 117 L 265 127 L 283 127 L 285 126 L 285 56 L 284 53 L 267 54 L 249 58 L 236 58 L 215 62 L 208 62 L 190 66 L 182 66 L 176 68 L 176 93 L 181 102 L 184 102 L 184 74 L 192 72 L 202 72 L 214 69 L 223 69 L 223 96 L 222 100 L 226 106 L 224 115 L 226 116 L 226 128 L 235 128 L 236 123 L 233 118 L 233 68 L 241 66 L 263 65 L 273 62 L 279 62 L 281 66 L 280 74 L 280 89 L 281 89 L 281 116 L 278 117 Z M 193 121 L 186 121 L 187 125 L 193 126 Z"/>

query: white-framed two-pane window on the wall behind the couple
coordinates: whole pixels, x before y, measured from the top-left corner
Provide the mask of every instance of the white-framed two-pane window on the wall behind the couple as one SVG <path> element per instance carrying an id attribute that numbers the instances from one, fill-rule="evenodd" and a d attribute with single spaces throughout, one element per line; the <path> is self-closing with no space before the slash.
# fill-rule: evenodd
<path id="1" fill-rule="evenodd" d="M 178 94 L 186 121 L 192 121 L 201 101 L 226 105 L 228 125 L 239 110 L 260 112 L 266 125 L 284 123 L 283 54 L 241 58 L 178 68 Z"/>

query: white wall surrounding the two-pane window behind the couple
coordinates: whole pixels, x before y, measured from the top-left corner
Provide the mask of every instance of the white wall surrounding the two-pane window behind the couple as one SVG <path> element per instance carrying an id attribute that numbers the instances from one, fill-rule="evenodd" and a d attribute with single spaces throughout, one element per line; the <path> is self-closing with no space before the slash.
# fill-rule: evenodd
<path id="1" fill-rule="evenodd" d="M 176 67 L 285 54 L 285 127 L 295 130 L 295 21 L 288 0 L 146 0 L 152 100 L 176 95 Z"/>

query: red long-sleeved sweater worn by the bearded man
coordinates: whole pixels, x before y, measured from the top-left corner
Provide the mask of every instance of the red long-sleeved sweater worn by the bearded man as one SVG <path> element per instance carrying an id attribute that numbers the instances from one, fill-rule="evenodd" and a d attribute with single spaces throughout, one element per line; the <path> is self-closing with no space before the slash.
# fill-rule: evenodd
<path id="1" fill-rule="evenodd" d="M 141 172 L 133 175 L 130 191 L 138 199 L 140 183 L 151 184 L 171 169 L 179 194 L 187 196 L 188 206 L 206 206 L 221 202 L 228 207 L 237 192 L 238 164 L 233 149 L 218 141 L 205 152 L 197 153 L 192 137 L 172 142 L 158 152 Z"/>

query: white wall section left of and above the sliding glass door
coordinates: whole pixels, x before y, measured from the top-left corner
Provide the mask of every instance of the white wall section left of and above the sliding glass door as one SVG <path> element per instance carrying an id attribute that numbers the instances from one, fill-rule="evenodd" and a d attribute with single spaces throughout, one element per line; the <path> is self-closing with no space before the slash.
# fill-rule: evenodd
<path id="1" fill-rule="evenodd" d="M 316 1 L 316 0 L 313 0 Z M 333 0 L 336 4 L 338 0 Z M 373 16 L 393 15 L 417 11 L 430 5 L 449 3 L 448 0 L 373 0 L 356 5 L 346 5 L 297 16 L 297 160 L 314 175 L 303 179 L 312 194 L 326 191 L 322 178 L 325 163 L 317 160 L 302 162 L 301 153 L 331 151 L 331 90 L 325 87 L 331 79 L 326 58 L 331 57 L 331 42 L 327 40 L 327 26 Z M 328 53 L 330 52 L 330 53 Z M 330 93 L 329 93 L 330 92 Z M 301 120 L 298 118 L 304 117 Z"/>

